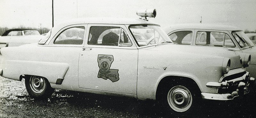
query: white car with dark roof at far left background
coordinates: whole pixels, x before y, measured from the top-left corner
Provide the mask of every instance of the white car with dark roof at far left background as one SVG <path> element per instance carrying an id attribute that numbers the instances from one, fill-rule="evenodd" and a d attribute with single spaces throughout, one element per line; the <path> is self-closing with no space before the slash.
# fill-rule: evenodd
<path id="1" fill-rule="evenodd" d="M 37 30 L 33 29 L 11 29 L 4 32 L 0 37 L 0 48 L 8 46 L 19 46 L 29 43 L 38 43 L 41 36 Z"/>

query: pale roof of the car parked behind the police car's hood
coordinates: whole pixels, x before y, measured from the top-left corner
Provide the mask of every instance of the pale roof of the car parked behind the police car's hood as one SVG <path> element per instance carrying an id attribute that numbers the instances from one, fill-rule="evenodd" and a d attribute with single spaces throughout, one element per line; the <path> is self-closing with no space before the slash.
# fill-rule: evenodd
<path id="1" fill-rule="evenodd" d="M 164 27 L 167 33 L 179 29 L 202 29 L 202 30 L 222 30 L 222 31 L 237 31 L 241 30 L 238 27 L 222 24 L 173 24 Z"/>

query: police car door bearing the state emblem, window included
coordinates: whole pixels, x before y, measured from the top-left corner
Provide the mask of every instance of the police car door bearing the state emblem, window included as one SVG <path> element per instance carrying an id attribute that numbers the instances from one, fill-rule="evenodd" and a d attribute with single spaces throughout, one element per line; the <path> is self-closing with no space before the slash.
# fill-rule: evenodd
<path id="1" fill-rule="evenodd" d="M 78 67 L 80 88 L 137 94 L 138 49 L 125 25 L 88 24 Z"/>

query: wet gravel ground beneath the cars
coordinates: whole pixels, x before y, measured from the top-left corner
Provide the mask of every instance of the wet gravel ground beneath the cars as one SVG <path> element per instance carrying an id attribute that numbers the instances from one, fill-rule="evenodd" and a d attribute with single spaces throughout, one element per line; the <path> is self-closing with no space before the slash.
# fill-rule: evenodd
<path id="1" fill-rule="evenodd" d="M 255 100 L 204 102 L 202 112 L 190 117 L 254 118 Z M 73 118 L 167 118 L 154 101 L 138 101 L 74 91 L 55 90 L 44 101 L 31 99 L 24 80 L 0 78 L 0 117 L 73 117 Z"/>

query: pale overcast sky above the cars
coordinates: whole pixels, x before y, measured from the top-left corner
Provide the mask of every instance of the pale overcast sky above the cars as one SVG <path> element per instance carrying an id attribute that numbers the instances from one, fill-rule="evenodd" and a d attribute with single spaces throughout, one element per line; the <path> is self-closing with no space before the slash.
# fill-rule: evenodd
<path id="1" fill-rule="evenodd" d="M 76 17 L 139 18 L 155 8 L 161 26 L 176 23 L 228 24 L 256 30 L 256 0 L 54 0 L 54 24 Z M 52 0 L 1 0 L 0 27 L 52 27 Z"/>

